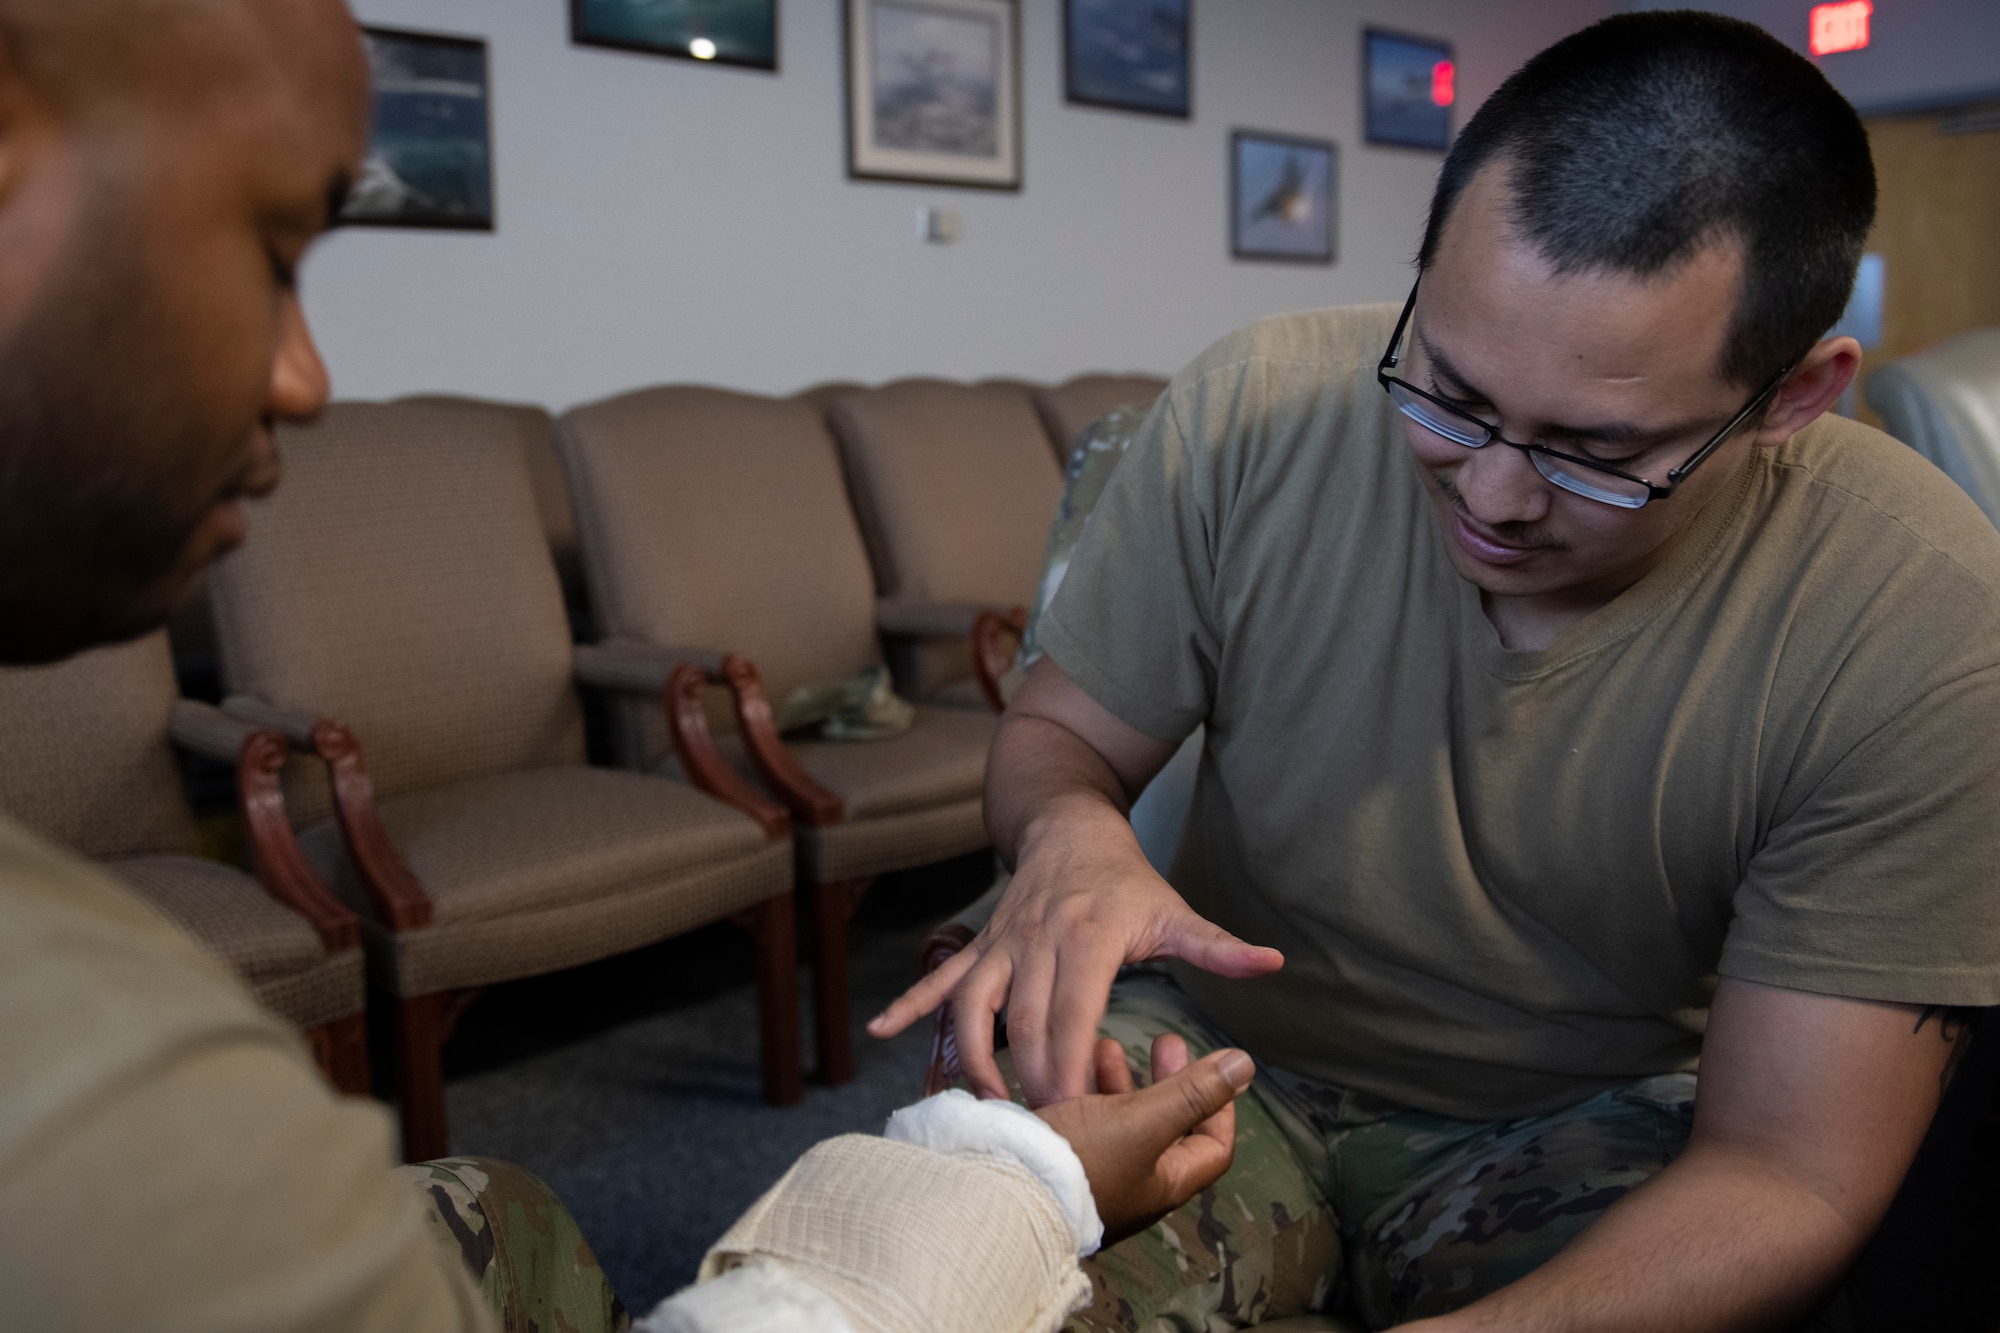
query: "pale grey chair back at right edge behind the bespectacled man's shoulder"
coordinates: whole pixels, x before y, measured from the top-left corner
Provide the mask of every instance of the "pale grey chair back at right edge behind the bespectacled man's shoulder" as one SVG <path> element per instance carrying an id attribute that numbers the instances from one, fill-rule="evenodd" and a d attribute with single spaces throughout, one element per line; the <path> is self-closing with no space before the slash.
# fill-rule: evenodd
<path id="1" fill-rule="evenodd" d="M 1974 328 L 1868 376 L 1868 406 L 2000 524 L 2000 328 Z"/>

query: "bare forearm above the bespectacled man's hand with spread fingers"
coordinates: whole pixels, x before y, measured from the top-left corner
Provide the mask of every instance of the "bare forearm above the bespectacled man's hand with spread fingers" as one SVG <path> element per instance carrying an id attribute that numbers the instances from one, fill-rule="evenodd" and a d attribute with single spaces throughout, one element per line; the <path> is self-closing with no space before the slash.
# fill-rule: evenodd
<path id="1" fill-rule="evenodd" d="M 1130 799 L 1112 767 L 1066 727 L 1008 715 L 986 759 L 986 833 L 1008 867 L 1052 831 L 1130 839 Z M 1134 843 L 1136 847 L 1136 843 Z"/>

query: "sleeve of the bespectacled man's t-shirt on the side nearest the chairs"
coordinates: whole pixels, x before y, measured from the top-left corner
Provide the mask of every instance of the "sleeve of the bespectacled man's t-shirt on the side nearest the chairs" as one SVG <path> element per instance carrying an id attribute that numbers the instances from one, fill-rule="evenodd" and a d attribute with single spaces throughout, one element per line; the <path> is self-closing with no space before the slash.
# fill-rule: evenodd
<path id="1" fill-rule="evenodd" d="M 1190 446 L 1178 388 L 1106 484 L 1040 626 L 1042 648 L 1078 689 L 1168 743 L 1208 717 L 1220 658 L 1210 456 Z"/>

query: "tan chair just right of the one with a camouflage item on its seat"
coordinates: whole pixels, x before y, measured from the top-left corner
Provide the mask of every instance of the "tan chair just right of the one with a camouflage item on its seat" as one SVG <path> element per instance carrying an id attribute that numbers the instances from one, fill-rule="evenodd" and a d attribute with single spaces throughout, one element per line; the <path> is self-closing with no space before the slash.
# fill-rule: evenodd
<path id="1" fill-rule="evenodd" d="M 890 666 L 918 701 L 988 705 L 968 636 L 1034 600 L 1062 470 L 1022 384 L 900 380 L 834 402 Z"/>

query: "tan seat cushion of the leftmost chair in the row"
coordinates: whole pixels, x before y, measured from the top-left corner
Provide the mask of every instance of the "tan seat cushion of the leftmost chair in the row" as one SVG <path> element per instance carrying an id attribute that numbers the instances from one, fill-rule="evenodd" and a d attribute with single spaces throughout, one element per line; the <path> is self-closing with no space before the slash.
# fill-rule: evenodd
<path id="1" fill-rule="evenodd" d="M 134 857 L 104 867 L 250 983 L 300 1029 L 362 1013 L 362 951 L 326 953 L 304 917 L 234 867 L 200 857 Z"/>

